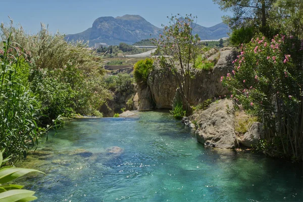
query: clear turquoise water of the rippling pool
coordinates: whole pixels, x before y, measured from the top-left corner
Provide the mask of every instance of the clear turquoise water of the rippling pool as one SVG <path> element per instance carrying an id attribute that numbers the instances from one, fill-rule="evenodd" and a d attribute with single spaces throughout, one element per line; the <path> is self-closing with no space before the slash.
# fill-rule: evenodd
<path id="1" fill-rule="evenodd" d="M 50 134 L 23 178 L 37 201 L 302 201 L 302 166 L 204 148 L 169 113 L 79 119 Z M 21 182 L 20 182 L 21 183 Z"/>

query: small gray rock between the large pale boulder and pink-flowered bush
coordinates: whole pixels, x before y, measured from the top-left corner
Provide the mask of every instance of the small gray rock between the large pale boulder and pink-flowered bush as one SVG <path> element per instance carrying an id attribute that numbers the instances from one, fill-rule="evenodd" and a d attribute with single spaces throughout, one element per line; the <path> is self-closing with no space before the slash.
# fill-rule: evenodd
<path id="1" fill-rule="evenodd" d="M 251 147 L 251 145 L 259 142 L 260 139 L 264 138 L 263 124 L 255 122 L 251 125 L 248 131 L 244 134 L 241 139 L 241 144 L 246 147 Z"/>

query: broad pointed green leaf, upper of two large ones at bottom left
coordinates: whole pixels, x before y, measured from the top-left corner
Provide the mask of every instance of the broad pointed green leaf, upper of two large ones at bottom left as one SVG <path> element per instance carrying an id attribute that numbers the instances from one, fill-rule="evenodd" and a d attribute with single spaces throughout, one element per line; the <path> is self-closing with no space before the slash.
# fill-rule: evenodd
<path id="1" fill-rule="evenodd" d="M 34 169 L 15 168 L 11 166 L 3 167 L 0 169 L 0 184 L 7 183 L 30 172 L 43 173 Z"/>

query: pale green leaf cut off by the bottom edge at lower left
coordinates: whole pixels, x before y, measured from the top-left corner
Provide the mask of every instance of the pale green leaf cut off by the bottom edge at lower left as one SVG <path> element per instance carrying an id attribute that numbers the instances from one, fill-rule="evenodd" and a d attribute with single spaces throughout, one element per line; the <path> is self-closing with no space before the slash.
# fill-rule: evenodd
<path id="1" fill-rule="evenodd" d="M 0 202 L 30 201 L 35 192 L 26 189 L 14 189 L 0 193 Z M 30 198 L 29 198 L 30 197 Z M 25 200 L 27 199 L 27 200 Z M 28 200 L 29 199 L 29 200 Z"/>

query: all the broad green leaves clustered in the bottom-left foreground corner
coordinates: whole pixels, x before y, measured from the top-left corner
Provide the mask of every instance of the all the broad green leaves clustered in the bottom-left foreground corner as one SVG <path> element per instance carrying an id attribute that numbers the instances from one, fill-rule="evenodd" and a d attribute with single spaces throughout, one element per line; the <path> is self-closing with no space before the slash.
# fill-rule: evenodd
<path id="1" fill-rule="evenodd" d="M 4 150 L 0 152 L 0 166 L 8 161 L 8 158 L 3 159 L 3 151 Z M 33 196 L 35 193 L 34 191 L 22 189 L 23 186 L 21 185 L 7 184 L 8 182 L 30 172 L 42 173 L 34 169 L 16 168 L 11 166 L 0 168 L 0 202 L 27 202 L 37 199 L 36 196 Z"/>

